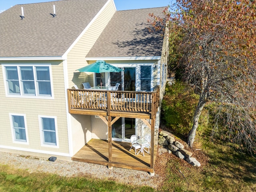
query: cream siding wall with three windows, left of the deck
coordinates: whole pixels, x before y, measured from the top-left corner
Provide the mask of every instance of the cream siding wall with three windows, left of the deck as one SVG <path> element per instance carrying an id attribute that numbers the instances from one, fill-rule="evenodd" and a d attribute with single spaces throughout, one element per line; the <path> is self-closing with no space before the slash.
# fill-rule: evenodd
<path id="1" fill-rule="evenodd" d="M 24 98 L 6 96 L 2 65 L 50 65 L 52 72 L 53 98 Z M 66 98 L 62 61 L 0 61 L 0 150 L 30 151 L 35 153 L 68 156 L 68 131 L 66 119 Z M 26 115 L 28 144 L 12 140 L 12 128 L 9 114 Z M 41 144 L 39 116 L 56 117 L 57 146 Z"/>

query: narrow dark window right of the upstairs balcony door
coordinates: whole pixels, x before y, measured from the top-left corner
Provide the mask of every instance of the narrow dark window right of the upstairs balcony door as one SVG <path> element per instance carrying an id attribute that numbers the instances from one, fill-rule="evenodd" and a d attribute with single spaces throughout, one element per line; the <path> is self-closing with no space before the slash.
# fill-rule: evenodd
<path id="1" fill-rule="evenodd" d="M 140 66 L 140 90 L 151 90 L 151 66 Z"/>

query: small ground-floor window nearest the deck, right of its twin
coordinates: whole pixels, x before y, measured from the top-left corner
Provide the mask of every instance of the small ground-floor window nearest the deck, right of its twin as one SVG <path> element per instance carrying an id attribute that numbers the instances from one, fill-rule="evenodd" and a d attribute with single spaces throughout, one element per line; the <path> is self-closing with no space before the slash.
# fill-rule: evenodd
<path id="1" fill-rule="evenodd" d="M 57 146 L 57 125 L 56 117 L 40 116 L 40 129 L 42 145 Z"/>

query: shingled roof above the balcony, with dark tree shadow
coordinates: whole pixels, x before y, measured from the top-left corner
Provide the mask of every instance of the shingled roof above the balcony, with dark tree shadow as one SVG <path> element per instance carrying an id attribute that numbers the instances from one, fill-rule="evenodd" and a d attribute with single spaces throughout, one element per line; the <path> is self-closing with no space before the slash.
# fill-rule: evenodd
<path id="1" fill-rule="evenodd" d="M 161 32 L 149 32 L 150 13 L 163 16 L 164 7 L 117 11 L 86 58 L 161 56 Z M 152 19 L 152 18 L 151 18 Z"/>

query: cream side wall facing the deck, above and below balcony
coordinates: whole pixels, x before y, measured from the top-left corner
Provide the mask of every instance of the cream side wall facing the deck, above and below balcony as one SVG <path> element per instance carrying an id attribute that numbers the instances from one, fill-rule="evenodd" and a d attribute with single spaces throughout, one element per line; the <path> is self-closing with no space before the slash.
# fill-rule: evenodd
<path id="1" fill-rule="evenodd" d="M 68 70 L 68 87 L 72 88 L 74 84 L 78 88 L 82 87 L 82 82 L 90 82 L 93 86 L 93 75 L 88 75 L 84 72 L 76 71 L 78 68 L 86 66 L 88 63 L 85 60 L 86 54 L 90 51 L 101 32 L 104 30 L 109 20 L 115 13 L 113 1 L 109 1 L 104 10 L 98 15 L 90 27 L 85 31 L 82 37 L 76 42 L 72 49 L 67 54 L 67 70 Z M 91 138 L 105 138 L 104 136 L 97 137 L 92 135 L 93 125 L 95 121 L 90 116 L 71 115 L 70 126 L 72 132 L 72 151 L 75 154 L 84 146 Z M 100 122 L 102 121 L 101 119 Z M 98 123 L 100 123 L 98 122 Z M 96 123 L 97 124 L 97 123 Z M 104 124 L 105 125 L 105 124 Z M 104 126 L 103 125 L 103 126 Z"/>

